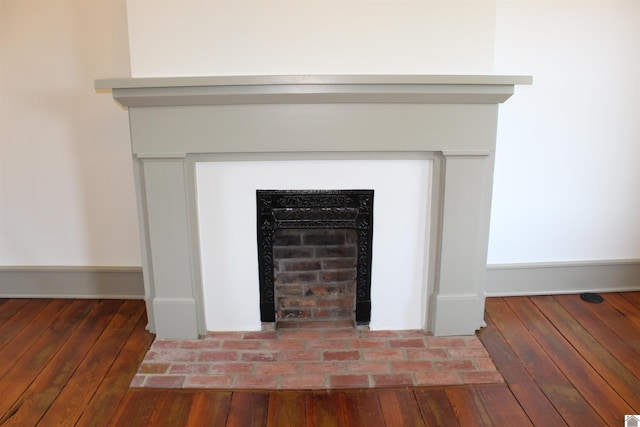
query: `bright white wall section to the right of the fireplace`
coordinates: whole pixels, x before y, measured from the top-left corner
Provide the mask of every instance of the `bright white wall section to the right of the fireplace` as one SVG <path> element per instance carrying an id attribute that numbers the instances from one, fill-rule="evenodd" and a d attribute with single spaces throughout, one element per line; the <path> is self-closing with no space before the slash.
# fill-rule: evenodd
<path id="1" fill-rule="evenodd" d="M 489 263 L 640 259 L 640 2 L 501 1 Z"/>

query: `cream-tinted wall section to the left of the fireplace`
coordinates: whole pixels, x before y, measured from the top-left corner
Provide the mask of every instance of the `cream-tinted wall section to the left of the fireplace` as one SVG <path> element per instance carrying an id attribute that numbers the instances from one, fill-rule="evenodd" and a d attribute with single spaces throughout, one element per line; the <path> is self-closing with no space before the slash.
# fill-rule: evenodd
<path id="1" fill-rule="evenodd" d="M 0 1 L 0 265 L 140 265 L 124 0 Z"/>

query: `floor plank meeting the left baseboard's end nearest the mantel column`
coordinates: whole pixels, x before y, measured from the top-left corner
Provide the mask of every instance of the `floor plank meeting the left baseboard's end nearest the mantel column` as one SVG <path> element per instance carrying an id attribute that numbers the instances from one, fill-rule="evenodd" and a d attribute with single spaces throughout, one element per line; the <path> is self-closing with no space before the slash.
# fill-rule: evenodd
<path id="1" fill-rule="evenodd" d="M 45 425 L 73 425 L 93 398 L 131 331 L 144 315 L 142 301 L 125 301 L 51 407 Z"/>

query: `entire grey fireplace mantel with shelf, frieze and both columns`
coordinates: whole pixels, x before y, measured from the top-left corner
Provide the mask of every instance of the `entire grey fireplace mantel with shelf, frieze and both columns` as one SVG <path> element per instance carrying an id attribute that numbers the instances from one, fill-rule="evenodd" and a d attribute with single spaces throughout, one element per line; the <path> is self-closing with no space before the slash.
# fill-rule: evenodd
<path id="1" fill-rule="evenodd" d="M 530 83 L 458 75 L 97 80 L 129 109 L 149 330 L 206 333 L 196 162 L 429 159 L 424 328 L 473 334 L 484 324 L 498 105 Z"/>

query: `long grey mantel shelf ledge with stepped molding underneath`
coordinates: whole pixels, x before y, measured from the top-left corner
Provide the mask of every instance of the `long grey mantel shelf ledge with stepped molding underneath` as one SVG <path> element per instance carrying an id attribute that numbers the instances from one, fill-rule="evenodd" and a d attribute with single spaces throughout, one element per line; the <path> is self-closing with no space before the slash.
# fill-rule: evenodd
<path id="1" fill-rule="evenodd" d="M 138 77 L 99 79 L 127 107 L 310 104 L 469 103 L 507 100 L 530 76 L 496 75 L 291 75 Z"/>

